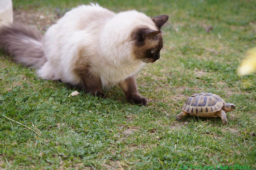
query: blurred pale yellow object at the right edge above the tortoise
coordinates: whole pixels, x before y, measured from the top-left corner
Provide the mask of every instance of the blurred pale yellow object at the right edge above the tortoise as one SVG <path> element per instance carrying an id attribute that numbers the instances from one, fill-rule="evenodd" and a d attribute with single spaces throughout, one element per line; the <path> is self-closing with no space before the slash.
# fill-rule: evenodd
<path id="1" fill-rule="evenodd" d="M 256 71 L 256 48 L 252 48 L 247 52 L 247 57 L 238 67 L 238 75 L 247 75 Z"/>

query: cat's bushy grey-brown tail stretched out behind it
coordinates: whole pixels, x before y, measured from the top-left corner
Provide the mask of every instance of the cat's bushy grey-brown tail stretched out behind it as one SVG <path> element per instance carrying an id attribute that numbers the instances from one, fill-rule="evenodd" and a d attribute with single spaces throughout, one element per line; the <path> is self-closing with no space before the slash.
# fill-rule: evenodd
<path id="1" fill-rule="evenodd" d="M 43 35 L 23 24 L 0 27 L 0 48 L 26 66 L 41 67 L 47 61 L 43 52 Z"/>

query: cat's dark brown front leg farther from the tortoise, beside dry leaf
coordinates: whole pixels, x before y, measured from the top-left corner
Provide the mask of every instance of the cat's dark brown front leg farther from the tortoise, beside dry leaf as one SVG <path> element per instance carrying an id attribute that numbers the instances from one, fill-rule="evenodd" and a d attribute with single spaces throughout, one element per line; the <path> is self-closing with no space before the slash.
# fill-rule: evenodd
<path id="1" fill-rule="evenodd" d="M 104 97 L 105 94 L 101 90 L 100 77 L 92 74 L 89 70 L 90 67 L 77 69 L 77 74 L 81 77 L 84 83 L 84 90 L 91 95 Z"/>

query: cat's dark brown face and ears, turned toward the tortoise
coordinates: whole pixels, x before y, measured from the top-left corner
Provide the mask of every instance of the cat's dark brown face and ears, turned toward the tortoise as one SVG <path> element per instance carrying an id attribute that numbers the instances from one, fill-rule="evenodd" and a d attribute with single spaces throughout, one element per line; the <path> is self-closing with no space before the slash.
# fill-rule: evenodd
<path id="1" fill-rule="evenodd" d="M 163 48 L 163 37 L 160 28 L 168 20 L 168 16 L 160 15 L 151 19 L 158 30 L 138 27 L 134 29 L 132 38 L 134 40 L 133 53 L 137 60 L 153 63 L 160 58 L 160 50 Z"/>

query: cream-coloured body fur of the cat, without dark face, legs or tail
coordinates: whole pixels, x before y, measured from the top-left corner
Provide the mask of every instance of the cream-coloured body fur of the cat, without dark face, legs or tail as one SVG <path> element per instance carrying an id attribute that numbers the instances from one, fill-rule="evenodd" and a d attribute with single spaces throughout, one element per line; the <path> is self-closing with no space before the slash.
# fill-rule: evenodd
<path id="1" fill-rule="evenodd" d="M 140 26 L 158 30 L 150 17 L 138 11 L 115 14 L 98 4 L 74 8 L 44 35 L 47 62 L 38 74 L 43 79 L 80 85 L 82 79 L 74 69 L 90 66 L 103 88 L 114 86 L 144 64 L 133 54 L 131 37 Z"/>

